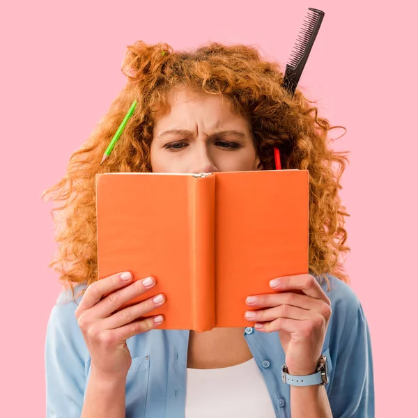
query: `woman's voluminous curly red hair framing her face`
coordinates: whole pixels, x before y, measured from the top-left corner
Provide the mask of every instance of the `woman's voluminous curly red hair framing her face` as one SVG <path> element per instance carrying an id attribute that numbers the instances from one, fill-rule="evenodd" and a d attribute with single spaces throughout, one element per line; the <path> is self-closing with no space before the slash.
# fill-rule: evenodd
<path id="1" fill-rule="evenodd" d="M 127 47 L 122 67 L 127 84 L 111 104 L 97 129 L 70 157 L 66 175 L 43 197 L 63 201 L 52 210 L 59 251 L 49 265 L 63 284 L 91 284 L 98 279 L 95 174 L 152 171 L 150 144 L 155 112 L 167 108 L 173 86 L 220 94 L 234 111 L 246 116 L 264 169 L 274 169 L 273 148 L 281 153 L 283 169 L 310 173 L 309 271 L 349 282 L 341 256 L 348 251 L 341 206 L 340 178 L 346 168 L 344 153 L 329 147 L 331 127 L 300 90 L 293 98 L 281 86 L 284 72 L 254 47 L 217 42 L 193 52 L 174 52 L 165 44 L 139 41 Z M 110 157 L 100 166 L 109 141 L 134 100 L 137 109 Z"/>

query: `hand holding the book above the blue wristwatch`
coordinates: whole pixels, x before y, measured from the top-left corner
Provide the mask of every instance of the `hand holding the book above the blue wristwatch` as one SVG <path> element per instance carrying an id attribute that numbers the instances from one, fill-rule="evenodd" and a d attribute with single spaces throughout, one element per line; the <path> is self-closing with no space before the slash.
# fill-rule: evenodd
<path id="1" fill-rule="evenodd" d="M 249 306 L 261 309 L 247 311 L 245 318 L 256 321 L 258 331 L 279 332 L 289 374 L 316 373 L 330 322 L 330 299 L 310 274 L 274 279 L 270 287 L 278 293 L 247 297 Z"/>

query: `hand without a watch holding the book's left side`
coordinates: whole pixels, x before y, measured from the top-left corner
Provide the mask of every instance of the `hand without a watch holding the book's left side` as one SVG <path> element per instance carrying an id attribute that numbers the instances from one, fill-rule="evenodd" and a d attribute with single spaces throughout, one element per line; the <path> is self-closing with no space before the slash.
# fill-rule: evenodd
<path id="1" fill-rule="evenodd" d="M 123 272 L 95 281 L 88 286 L 75 311 L 91 355 L 92 373 L 94 371 L 103 379 L 117 376 L 125 378 L 132 364 L 126 340 L 130 336 L 153 330 L 164 320 L 160 315 L 138 320 L 164 304 L 163 295 L 160 300 L 157 300 L 157 295 L 115 312 L 125 302 L 155 286 L 152 277 L 134 282 L 132 278 L 132 273 Z"/>

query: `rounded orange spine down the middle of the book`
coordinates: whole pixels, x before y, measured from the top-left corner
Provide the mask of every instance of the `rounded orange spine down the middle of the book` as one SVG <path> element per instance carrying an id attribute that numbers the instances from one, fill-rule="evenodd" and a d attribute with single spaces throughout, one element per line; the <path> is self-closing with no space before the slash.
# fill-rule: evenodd
<path id="1" fill-rule="evenodd" d="M 188 183 L 190 277 L 194 330 L 215 327 L 215 176 L 191 176 Z"/>

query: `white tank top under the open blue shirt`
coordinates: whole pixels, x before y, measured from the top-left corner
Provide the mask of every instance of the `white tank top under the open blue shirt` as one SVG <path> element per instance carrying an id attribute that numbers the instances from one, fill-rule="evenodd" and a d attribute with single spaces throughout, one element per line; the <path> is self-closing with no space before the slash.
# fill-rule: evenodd
<path id="1" fill-rule="evenodd" d="M 187 369 L 185 418 L 275 418 L 254 358 L 222 369 Z"/>

